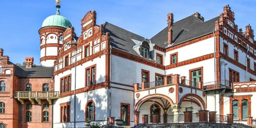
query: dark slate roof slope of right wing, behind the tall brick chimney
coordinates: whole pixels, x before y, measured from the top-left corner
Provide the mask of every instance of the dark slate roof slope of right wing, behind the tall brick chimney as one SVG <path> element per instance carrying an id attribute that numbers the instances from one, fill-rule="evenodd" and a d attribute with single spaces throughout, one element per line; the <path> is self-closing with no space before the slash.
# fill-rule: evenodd
<path id="1" fill-rule="evenodd" d="M 181 44 L 184 41 L 209 34 L 214 31 L 215 22 L 219 17 L 212 18 L 203 22 L 201 19 L 190 15 L 173 24 L 173 45 Z M 151 38 L 151 42 L 165 48 L 167 44 L 168 27 L 164 28 L 158 34 Z"/>

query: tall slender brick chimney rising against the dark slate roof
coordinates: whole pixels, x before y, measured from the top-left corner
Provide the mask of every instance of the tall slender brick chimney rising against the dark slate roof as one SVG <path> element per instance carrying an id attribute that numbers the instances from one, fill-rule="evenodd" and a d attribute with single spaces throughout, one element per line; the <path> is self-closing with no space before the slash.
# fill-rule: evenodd
<path id="1" fill-rule="evenodd" d="M 168 45 L 173 43 L 173 24 L 174 24 L 174 14 L 167 14 L 167 24 L 168 24 Z"/>

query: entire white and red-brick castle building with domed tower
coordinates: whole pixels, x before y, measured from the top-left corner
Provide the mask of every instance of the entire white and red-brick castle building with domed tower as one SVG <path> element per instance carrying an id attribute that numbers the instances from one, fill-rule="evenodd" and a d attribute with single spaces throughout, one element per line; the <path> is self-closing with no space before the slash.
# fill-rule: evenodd
<path id="1" fill-rule="evenodd" d="M 95 11 L 77 36 L 56 7 L 39 29 L 41 66 L 33 57 L 14 65 L 0 49 L 0 127 L 83 127 L 114 117 L 134 126 L 184 122 L 184 112 L 197 121 L 208 111 L 222 123 L 232 116 L 252 124 L 256 41 L 250 25 L 238 30 L 228 5 L 206 21 L 196 12 L 174 23 L 169 13 L 150 39 L 97 25 Z"/>

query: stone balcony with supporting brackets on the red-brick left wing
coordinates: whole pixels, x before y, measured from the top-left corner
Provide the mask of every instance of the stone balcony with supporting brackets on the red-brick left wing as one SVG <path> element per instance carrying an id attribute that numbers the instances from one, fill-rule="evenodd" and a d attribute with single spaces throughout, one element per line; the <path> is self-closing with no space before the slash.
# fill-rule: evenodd
<path id="1" fill-rule="evenodd" d="M 41 100 L 47 100 L 49 104 L 52 104 L 53 99 L 59 98 L 59 92 L 16 91 L 14 98 L 21 104 L 24 104 L 24 100 L 29 100 L 32 104 L 35 104 L 35 101 L 41 104 Z"/>

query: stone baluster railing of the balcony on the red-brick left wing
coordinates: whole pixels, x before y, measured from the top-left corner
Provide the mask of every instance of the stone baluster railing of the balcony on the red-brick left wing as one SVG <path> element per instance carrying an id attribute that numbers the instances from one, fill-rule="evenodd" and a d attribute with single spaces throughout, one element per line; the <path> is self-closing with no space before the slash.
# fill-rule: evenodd
<path id="1" fill-rule="evenodd" d="M 14 98 L 58 98 L 59 92 L 30 92 L 17 91 Z"/>

